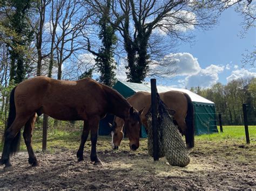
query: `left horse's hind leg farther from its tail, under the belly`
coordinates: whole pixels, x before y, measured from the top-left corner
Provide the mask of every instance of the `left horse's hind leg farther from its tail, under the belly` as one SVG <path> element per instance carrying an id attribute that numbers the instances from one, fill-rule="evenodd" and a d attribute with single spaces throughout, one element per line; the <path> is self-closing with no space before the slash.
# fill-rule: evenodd
<path id="1" fill-rule="evenodd" d="M 23 132 L 23 138 L 25 140 L 26 148 L 29 153 L 29 164 L 32 166 L 39 166 L 39 162 L 35 156 L 35 153 L 33 152 L 33 148 L 31 145 L 31 138 L 32 138 L 32 131 L 34 128 L 36 122 L 36 114 L 34 114 L 28 122 L 25 124 L 24 132 Z"/>

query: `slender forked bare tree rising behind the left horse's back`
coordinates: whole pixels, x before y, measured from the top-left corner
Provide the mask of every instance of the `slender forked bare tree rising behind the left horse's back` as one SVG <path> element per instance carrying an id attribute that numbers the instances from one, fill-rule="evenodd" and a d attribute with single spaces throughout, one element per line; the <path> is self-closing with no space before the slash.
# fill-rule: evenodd
<path id="1" fill-rule="evenodd" d="M 62 77 L 62 65 L 73 54 L 84 49 L 82 43 L 83 28 L 90 18 L 90 11 L 85 10 L 78 1 L 56 0 L 52 2 L 51 23 L 51 55 L 50 69 L 53 65 L 53 50 L 56 50 L 58 65 L 57 79 Z"/>

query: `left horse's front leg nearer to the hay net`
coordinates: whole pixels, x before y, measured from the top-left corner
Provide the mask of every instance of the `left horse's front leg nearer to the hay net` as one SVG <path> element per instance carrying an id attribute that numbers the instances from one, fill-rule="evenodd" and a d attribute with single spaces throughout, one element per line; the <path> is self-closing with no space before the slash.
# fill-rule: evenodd
<path id="1" fill-rule="evenodd" d="M 97 157 L 97 154 L 96 154 L 99 117 L 91 118 L 89 125 L 91 129 L 91 161 L 94 162 L 94 165 L 102 165 L 102 162 L 100 161 L 100 159 Z"/>

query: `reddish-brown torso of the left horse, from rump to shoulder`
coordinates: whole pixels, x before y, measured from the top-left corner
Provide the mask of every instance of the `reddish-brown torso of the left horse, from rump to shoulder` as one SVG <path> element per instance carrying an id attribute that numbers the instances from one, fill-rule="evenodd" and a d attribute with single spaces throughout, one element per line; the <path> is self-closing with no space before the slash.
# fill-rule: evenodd
<path id="1" fill-rule="evenodd" d="M 105 113 L 102 84 L 92 80 L 62 81 L 34 77 L 15 90 L 17 111 L 40 112 L 60 120 L 80 120 Z"/>

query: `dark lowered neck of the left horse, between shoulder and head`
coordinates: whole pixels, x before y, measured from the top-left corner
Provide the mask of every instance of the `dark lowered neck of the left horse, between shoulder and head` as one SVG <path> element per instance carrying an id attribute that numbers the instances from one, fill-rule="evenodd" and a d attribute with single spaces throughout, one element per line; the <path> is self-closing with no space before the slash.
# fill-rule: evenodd
<path id="1" fill-rule="evenodd" d="M 130 103 L 125 100 L 125 98 L 120 95 L 116 90 L 105 86 L 107 100 L 109 101 L 109 110 L 112 114 L 125 119 L 128 115 L 129 109 L 131 107 Z"/>

